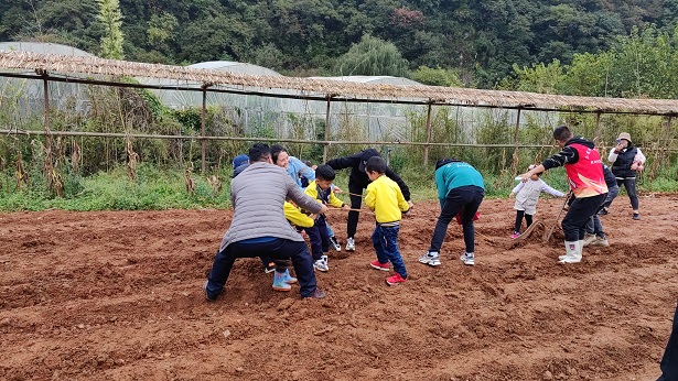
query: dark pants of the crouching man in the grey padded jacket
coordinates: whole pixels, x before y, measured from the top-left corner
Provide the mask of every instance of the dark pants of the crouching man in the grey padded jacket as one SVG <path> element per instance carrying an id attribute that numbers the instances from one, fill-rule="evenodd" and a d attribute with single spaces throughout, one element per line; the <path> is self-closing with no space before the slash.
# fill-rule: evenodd
<path id="1" fill-rule="evenodd" d="M 261 243 L 234 242 L 217 252 L 207 277 L 207 295 L 214 298 L 222 292 L 237 258 L 259 257 L 262 252 L 273 260 L 292 260 L 301 286 L 301 297 L 315 292 L 315 271 L 306 242 L 276 238 Z"/>

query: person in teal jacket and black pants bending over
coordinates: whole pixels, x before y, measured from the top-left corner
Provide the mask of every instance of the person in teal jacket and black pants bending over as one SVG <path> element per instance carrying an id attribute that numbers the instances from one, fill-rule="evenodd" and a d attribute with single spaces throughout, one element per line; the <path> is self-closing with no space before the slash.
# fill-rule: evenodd
<path id="1" fill-rule="evenodd" d="M 435 222 L 431 247 L 419 257 L 419 262 L 432 266 L 440 265 L 440 248 L 448 232 L 448 225 L 454 216 L 462 213 L 466 250 L 460 259 L 464 264 L 473 265 L 475 264 L 473 218 L 485 197 L 483 175 L 469 163 L 456 159 L 441 159 L 435 163 L 435 186 L 441 207 L 440 216 Z"/>

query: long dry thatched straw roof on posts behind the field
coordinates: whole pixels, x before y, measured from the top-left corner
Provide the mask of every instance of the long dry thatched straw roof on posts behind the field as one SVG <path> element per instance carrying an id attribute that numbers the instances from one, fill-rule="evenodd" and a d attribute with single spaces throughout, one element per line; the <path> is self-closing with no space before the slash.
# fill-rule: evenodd
<path id="1" fill-rule="evenodd" d="M 290 90 L 299 91 L 300 97 L 321 95 L 384 102 L 415 101 L 472 107 L 678 115 L 678 100 L 674 99 L 595 98 L 440 86 L 369 85 L 319 78 L 234 74 L 214 69 L 29 52 L 0 52 L 0 70 L 3 68 L 33 70 L 37 74 L 50 75 L 84 74 L 187 80 L 211 86 L 236 87 L 243 92 L 270 92 L 271 96 L 276 96 L 276 90 Z"/>

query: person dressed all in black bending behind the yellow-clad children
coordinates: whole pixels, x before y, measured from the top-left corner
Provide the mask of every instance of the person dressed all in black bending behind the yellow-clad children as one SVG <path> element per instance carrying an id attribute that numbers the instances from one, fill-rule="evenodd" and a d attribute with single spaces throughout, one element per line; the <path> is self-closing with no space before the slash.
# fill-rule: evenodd
<path id="1" fill-rule="evenodd" d="M 357 209 L 363 205 L 363 189 L 366 189 L 369 184 L 369 177 L 367 177 L 367 173 L 365 173 L 365 164 L 367 160 L 373 156 L 381 155 L 375 149 L 367 149 L 348 156 L 333 159 L 326 163 L 335 171 L 351 168 L 351 175 L 348 175 L 348 192 L 351 196 L 351 208 L 354 210 L 348 211 L 348 221 L 346 222 L 346 251 L 355 251 L 355 232 L 358 228 L 358 217 L 360 216 Z M 410 202 L 410 189 L 402 178 L 388 166 L 384 174 L 398 184 L 410 208 L 415 206 L 412 202 Z"/>

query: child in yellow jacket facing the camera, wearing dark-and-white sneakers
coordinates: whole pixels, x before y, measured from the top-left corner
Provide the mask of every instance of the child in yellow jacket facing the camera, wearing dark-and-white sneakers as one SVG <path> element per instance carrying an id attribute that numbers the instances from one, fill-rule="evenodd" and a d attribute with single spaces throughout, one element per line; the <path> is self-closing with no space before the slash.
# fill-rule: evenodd
<path id="1" fill-rule="evenodd" d="M 334 170 L 330 165 L 319 165 L 315 168 L 315 179 L 309 183 L 304 193 L 319 203 L 331 205 L 336 208 L 348 209 L 334 192 L 332 192 L 332 182 L 334 181 Z M 327 251 L 330 251 L 330 236 L 327 232 L 327 221 L 325 215 L 319 215 L 315 218 L 315 224 L 312 227 L 305 228 L 309 240 L 311 241 L 311 253 L 313 254 L 313 268 L 315 270 L 326 272 L 330 271 L 327 265 Z"/>

